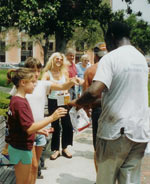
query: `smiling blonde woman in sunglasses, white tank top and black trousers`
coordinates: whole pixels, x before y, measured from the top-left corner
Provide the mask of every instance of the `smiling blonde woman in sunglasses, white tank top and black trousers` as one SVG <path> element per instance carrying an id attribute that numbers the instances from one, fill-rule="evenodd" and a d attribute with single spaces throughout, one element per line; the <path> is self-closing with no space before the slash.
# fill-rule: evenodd
<path id="1" fill-rule="evenodd" d="M 66 81 L 70 80 L 67 63 L 64 54 L 59 52 L 53 53 L 49 58 L 45 68 L 42 80 L 51 80 L 58 84 L 63 84 Z M 66 92 L 66 91 L 65 91 Z M 51 91 L 48 95 L 48 111 L 49 114 L 52 114 L 55 109 L 58 108 L 57 97 L 60 93 L 65 93 L 64 91 Z M 65 107 L 65 105 L 63 106 Z M 72 158 L 72 155 L 68 152 L 68 145 L 72 145 L 73 142 L 73 128 L 70 121 L 70 116 L 67 114 L 65 117 L 61 118 L 62 126 L 62 155 L 66 158 Z M 51 150 L 53 154 L 50 156 L 51 160 L 55 160 L 60 156 L 60 130 L 59 120 L 55 121 L 52 125 L 54 128 L 54 133 L 52 135 Z"/>

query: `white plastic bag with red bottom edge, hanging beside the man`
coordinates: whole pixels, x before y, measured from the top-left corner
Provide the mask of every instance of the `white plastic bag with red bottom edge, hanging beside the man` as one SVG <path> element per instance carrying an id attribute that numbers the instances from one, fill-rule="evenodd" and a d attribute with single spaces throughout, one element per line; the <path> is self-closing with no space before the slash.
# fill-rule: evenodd
<path id="1" fill-rule="evenodd" d="M 75 107 L 72 107 L 69 111 L 69 115 L 75 132 L 80 132 L 91 125 L 90 118 L 84 109 L 77 111 Z"/>

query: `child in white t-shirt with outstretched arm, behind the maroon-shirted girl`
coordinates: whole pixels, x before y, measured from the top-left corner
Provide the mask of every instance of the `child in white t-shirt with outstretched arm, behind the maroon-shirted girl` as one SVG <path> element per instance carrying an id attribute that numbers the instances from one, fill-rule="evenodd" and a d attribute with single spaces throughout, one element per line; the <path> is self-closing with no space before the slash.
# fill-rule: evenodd
<path id="1" fill-rule="evenodd" d="M 40 73 L 42 70 L 42 64 L 37 58 L 28 57 L 25 61 L 24 66 L 26 68 L 31 68 L 35 72 L 36 80 L 39 79 Z M 74 78 L 70 79 L 68 82 L 64 84 L 56 84 L 54 82 L 50 81 L 42 81 L 38 80 L 36 83 L 36 86 L 33 90 L 32 94 L 27 94 L 26 98 L 30 104 L 34 121 L 40 121 L 44 119 L 44 107 L 46 103 L 47 95 L 51 90 L 66 90 L 72 87 L 74 84 L 76 84 L 76 80 Z M 12 89 L 10 92 L 11 95 L 15 95 L 16 89 Z M 38 171 L 38 165 L 39 160 L 43 151 L 43 147 L 46 144 L 46 138 L 43 131 L 49 131 L 53 132 L 53 128 L 46 128 L 38 131 L 35 137 L 33 149 L 32 149 L 32 170 L 31 170 L 31 180 L 30 184 L 35 184 L 36 178 L 37 178 L 37 171 Z"/>

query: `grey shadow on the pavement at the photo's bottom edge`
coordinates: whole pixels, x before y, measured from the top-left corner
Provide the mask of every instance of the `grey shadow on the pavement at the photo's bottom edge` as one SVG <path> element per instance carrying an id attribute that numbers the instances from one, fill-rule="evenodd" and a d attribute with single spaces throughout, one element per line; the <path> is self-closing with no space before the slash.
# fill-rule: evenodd
<path id="1" fill-rule="evenodd" d="M 93 184 L 94 181 L 73 176 L 71 174 L 62 173 L 59 175 L 57 179 L 57 183 L 59 184 Z"/>

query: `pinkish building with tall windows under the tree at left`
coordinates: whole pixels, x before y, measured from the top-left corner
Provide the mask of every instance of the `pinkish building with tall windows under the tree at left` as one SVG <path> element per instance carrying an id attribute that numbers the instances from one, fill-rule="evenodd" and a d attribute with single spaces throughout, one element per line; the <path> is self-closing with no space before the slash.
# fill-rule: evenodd
<path id="1" fill-rule="evenodd" d="M 44 44 L 44 43 L 43 43 Z M 55 51 L 55 41 L 49 40 L 49 54 Z M 31 40 L 24 32 L 16 29 L 0 35 L 0 62 L 17 64 L 33 56 L 44 63 L 44 53 L 40 41 Z"/>

